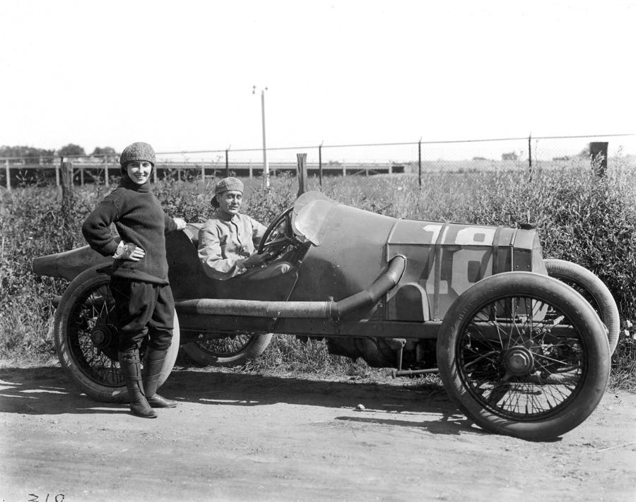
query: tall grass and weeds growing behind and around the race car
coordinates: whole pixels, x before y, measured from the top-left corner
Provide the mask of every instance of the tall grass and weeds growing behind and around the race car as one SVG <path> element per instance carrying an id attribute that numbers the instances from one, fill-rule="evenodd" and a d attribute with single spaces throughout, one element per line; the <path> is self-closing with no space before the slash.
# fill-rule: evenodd
<path id="1" fill-rule="evenodd" d="M 574 261 L 601 277 L 617 301 L 622 335 L 612 359 L 611 386 L 636 390 L 636 169 L 622 157 L 608 162 L 606 177 L 589 165 L 562 169 L 484 172 L 427 172 L 422 186 L 413 174 L 326 178 L 331 198 L 392 217 L 445 220 L 483 225 L 537 225 L 546 258 Z M 309 180 L 317 189 L 317 179 Z M 204 221 L 214 181 L 164 180 L 155 193 L 171 215 Z M 298 191 L 295 177 L 246 179 L 244 212 L 269 222 L 288 207 Z M 81 222 L 104 195 L 103 186 L 76 188 L 71 213 L 61 212 L 56 187 L 16 189 L 0 195 L 0 359 L 24 364 L 50 361 L 50 299 L 66 282 L 37 277 L 33 258 L 84 244 Z M 307 371 L 365 376 L 363 363 L 328 354 L 324 342 L 303 343 L 277 336 L 266 354 L 245 371 Z"/>

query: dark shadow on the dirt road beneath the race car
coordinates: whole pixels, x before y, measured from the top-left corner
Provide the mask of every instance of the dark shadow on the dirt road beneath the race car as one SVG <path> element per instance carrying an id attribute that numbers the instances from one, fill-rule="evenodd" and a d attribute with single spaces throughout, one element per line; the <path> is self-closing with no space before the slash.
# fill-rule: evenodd
<path id="1" fill-rule="evenodd" d="M 435 384 L 404 387 L 395 383 L 175 369 L 161 393 L 180 402 L 202 405 L 261 406 L 283 402 L 352 409 L 363 404 L 367 411 L 461 414 Z M 6 368 L 0 369 L 0 412 L 126 413 L 127 407 L 89 398 L 59 367 Z"/>

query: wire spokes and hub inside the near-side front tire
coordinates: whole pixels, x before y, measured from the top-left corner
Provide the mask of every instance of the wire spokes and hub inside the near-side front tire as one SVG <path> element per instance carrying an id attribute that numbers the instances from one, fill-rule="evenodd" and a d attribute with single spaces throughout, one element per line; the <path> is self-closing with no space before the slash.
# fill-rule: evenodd
<path id="1" fill-rule="evenodd" d="M 563 334 L 553 333 L 556 326 L 565 328 Z M 510 296 L 483 306 L 461 330 L 458 371 L 488 410 L 534 421 L 577 395 L 587 371 L 583 346 L 563 311 L 541 299 Z"/>

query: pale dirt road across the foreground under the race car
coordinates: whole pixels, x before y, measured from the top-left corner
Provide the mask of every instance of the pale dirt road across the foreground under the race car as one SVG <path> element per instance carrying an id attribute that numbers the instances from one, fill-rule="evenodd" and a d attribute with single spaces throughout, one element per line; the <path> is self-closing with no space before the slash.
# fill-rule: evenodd
<path id="1" fill-rule="evenodd" d="M 0 380 L 0 502 L 636 501 L 628 393 L 529 443 L 483 433 L 437 386 L 391 378 L 178 369 L 162 393 L 179 407 L 152 420 L 90 400 L 59 368 Z"/>

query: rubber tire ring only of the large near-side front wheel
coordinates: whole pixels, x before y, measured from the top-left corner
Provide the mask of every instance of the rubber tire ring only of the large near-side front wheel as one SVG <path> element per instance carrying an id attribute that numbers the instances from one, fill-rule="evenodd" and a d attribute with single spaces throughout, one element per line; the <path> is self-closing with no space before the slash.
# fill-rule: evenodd
<path id="1" fill-rule="evenodd" d="M 457 368 L 458 337 L 485 304 L 508 295 L 527 295 L 550 301 L 577 320 L 586 344 L 587 373 L 570 405 L 533 422 L 515 421 L 486 409 L 464 385 Z M 531 272 L 507 272 L 486 277 L 457 298 L 442 322 L 437 338 L 437 363 L 449 397 L 459 402 L 470 419 L 486 431 L 527 441 L 549 441 L 584 422 L 601 401 L 610 373 L 609 345 L 599 316 L 585 299 L 563 282 Z"/>

